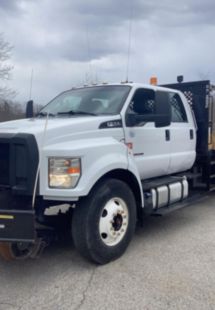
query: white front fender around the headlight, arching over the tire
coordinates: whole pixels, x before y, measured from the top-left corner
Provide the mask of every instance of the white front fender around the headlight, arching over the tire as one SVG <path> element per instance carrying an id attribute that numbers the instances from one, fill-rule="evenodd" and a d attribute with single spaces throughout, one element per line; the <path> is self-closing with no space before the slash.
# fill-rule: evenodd
<path id="1" fill-rule="evenodd" d="M 74 189 L 51 189 L 48 186 L 49 157 L 80 157 L 82 175 Z M 128 169 L 127 147 L 112 137 L 60 143 L 41 152 L 40 195 L 53 200 L 75 200 L 86 196 L 94 184 L 115 169 Z"/>

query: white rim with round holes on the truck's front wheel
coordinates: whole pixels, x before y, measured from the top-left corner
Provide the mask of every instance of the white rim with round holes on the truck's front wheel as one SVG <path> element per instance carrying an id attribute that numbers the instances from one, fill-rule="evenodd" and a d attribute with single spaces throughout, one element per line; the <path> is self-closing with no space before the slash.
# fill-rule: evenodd
<path id="1" fill-rule="evenodd" d="M 117 245 L 128 229 L 128 207 L 121 198 L 112 198 L 104 206 L 99 221 L 101 240 L 108 246 Z"/>

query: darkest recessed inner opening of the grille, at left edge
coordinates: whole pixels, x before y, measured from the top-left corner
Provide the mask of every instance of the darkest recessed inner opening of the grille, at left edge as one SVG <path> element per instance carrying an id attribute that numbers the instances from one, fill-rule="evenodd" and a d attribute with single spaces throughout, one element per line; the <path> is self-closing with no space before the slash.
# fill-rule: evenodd
<path id="1" fill-rule="evenodd" d="M 9 185 L 9 150 L 8 143 L 0 143 L 0 185 Z"/>

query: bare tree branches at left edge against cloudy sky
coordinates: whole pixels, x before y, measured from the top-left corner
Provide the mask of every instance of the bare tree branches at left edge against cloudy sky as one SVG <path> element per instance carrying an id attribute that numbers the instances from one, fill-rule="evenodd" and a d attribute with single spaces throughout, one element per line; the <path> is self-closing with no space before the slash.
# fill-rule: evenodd
<path id="1" fill-rule="evenodd" d="M 11 76 L 13 67 L 8 65 L 7 61 L 11 57 L 12 45 L 4 40 L 3 34 L 0 33 L 0 98 L 14 96 L 15 92 L 4 85 L 4 81 Z"/>

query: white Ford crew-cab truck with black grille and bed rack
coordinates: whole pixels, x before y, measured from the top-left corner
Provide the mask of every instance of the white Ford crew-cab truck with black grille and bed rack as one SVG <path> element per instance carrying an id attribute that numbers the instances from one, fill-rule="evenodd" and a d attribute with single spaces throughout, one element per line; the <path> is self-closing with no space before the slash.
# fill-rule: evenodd
<path id="1" fill-rule="evenodd" d="M 74 88 L 35 117 L 1 123 L 1 255 L 34 256 L 66 204 L 76 248 L 105 264 L 145 215 L 213 188 L 212 93 L 209 81 Z"/>

